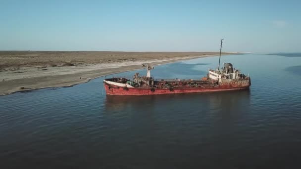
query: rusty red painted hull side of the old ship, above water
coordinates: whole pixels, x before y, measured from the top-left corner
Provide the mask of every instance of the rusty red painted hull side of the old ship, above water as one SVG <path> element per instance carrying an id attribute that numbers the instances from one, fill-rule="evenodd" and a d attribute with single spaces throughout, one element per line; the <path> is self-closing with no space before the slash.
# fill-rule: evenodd
<path id="1" fill-rule="evenodd" d="M 168 88 L 123 88 L 112 86 L 104 83 L 106 94 L 108 95 L 155 95 L 155 94 L 175 94 L 175 93 L 192 93 L 192 92 L 213 92 L 213 91 L 227 91 L 227 90 L 242 90 L 249 89 L 250 85 L 246 86 L 215 86 L 210 88 L 202 87 L 185 87 L 174 88 L 172 91 Z"/>

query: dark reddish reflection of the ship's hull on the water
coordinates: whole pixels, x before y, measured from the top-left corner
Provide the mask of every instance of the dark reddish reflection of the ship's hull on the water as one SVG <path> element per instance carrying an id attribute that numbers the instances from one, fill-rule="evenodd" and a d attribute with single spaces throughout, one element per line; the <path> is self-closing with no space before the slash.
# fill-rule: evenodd
<path id="1" fill-rule="evenodd" d="M 119 96 L 108 95 L 105 98 L 105 110 L 110 112 L 127 111 L 128 109 L 148 111 L 146 107 L 156 107 L 160 103 L 181 105 L 190 109 L 191 105 L 202 104 L 208 106 L 207 110 L 223 108 L 227 111 L 239 111 L 241 102 L 248 103 L 250 90 L 183 93 L 147 96 Z"/>

